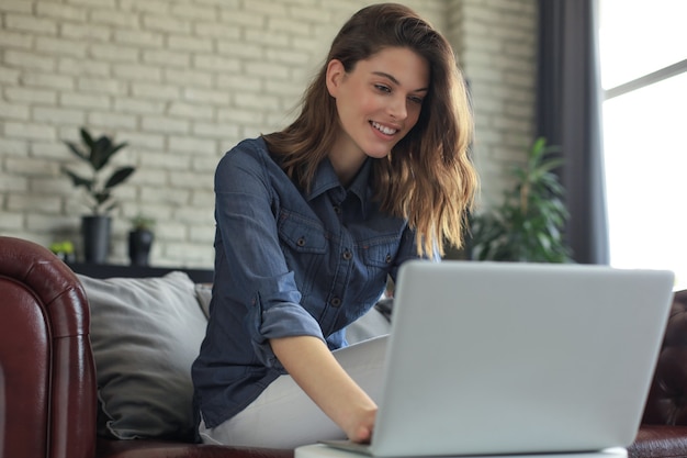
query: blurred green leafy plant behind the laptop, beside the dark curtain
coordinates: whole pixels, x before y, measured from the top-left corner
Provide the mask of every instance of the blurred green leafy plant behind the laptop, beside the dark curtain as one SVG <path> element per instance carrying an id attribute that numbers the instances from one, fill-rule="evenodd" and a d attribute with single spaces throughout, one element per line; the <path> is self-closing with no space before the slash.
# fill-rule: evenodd
<path id="1" fill-rule="evenodd" d="M 558 150 L 537 138 L 527 164 L 513 170 L 515 185 L 504 202 L 471 217 L 471 257 L 475 260 L 570 262 L 563 231 L 568 212 L 564 189 L 552 171 L 563 164 L 548 156 Z"/>

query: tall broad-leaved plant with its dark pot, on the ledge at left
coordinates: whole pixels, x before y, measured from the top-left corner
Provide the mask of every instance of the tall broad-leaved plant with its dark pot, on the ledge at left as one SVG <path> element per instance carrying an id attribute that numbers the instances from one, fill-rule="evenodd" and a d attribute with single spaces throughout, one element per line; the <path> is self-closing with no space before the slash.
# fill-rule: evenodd
<path id="1" fill-rule="evenodd" d="M 117 205 L 112 196 L 112 190 L 124 182 L 135 170 L 134 167 L 115 168 L 106 177 L 103 176 L 110 159 L 127 144 L 115 144 L 112 138 L 101 135 L 98 138 L 81 127 L 81 145 L 65 141 L 69 150 L 88 165 L 88 175 L 80 175 L 67 167 L 61 167 L 64 174 L 71 178 L 76 188 L 86 190 L 87 205 L 90 214 L 81 219 L 81 232 L 83 236 L 83 257 L 87 262 L 101 264 L 108 258 L 110 246 L 110 212 Z"/>

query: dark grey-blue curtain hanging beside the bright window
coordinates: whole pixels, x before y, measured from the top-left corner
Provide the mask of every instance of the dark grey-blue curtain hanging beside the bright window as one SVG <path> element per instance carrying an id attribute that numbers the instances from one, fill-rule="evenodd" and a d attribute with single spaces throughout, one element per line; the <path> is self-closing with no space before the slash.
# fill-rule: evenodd
<path id="1" fill-rule="evenodd" d="M 537 130 L 561 146 L 573 258 L 608 264 L 597 0 L 539 0 Z"/>

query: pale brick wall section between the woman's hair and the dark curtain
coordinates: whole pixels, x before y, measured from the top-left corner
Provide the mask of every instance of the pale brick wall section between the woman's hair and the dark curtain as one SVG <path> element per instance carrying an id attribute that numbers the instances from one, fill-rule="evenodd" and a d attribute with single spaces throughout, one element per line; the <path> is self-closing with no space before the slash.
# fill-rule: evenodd
<path id="1" fill-rule="evenodd" d="M 461 66 L 475 110 L 474 158 L 482 177 L 481 203 L 499 203 L 508 170 L 533 142 L 537 3 L 531 0 L 453 0 Z"/>

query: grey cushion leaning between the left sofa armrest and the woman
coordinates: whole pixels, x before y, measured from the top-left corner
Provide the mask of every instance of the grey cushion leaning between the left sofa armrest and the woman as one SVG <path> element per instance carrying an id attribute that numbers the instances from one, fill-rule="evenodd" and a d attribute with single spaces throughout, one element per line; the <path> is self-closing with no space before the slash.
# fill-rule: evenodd
<path id="1" fill-rule="evenodd" d="M 91 306 L 99 434 L 192 437 L 191 364 L 206 325 L 192 280 L 183 272 L 79 279 Z"/>

